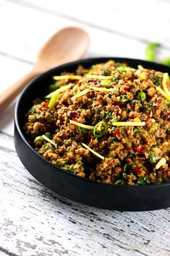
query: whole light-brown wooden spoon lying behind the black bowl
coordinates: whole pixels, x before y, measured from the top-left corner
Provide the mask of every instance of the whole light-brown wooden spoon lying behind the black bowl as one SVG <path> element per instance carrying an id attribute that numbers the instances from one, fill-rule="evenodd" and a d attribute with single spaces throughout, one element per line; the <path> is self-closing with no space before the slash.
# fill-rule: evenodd
<path id="1" fill-rule="evenodd" d="M 81 59 L 88 46 L 89 35 L 79 27 L 66 27 L 53 35 L 42 47 L 33 69 L 1 93 L 0 112 L 9 106 L 9 103 L 21 92 L 27 82 L 55 66 Z"/>

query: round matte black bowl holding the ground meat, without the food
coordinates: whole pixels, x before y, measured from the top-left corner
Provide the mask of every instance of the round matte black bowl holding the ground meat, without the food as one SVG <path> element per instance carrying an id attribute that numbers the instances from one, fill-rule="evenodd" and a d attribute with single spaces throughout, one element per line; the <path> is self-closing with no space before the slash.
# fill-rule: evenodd
<path id="1" fill-rule="evenodd" d="M 58 166 L 53 166 L 49 161 L 46 161 L 41 155 L 37 154 L 24 136 L 22 130 L 25 121 L 24 114 L 32 106 L 32 101 L 35 98 L 40 98 L 45 94 L 45 90 L 50 85 L 53 75 L 60 74 L 63 71 L 72 72 L 78 64 L 89 67 L 91 64 L 108 61 L 109 59 L 120 62 L 125 61 L 128 65 L 135 68 L 140 64 L 148 69 L 170 73 L 170 69 L 161 64 L 138 59 L 114 57 L 84 59 L 50 69 L 30 82 L 17 102 L 14 116 L 14 143 L 17 154 L 35 179 L 54 192 L 71 200 L 97 208 L 112 210 L 137 211 L 170 207 L 170 184 L 168 183 L 128 186 L 92 182 L 89 179 L 80 178 L 64 171 Z"/>

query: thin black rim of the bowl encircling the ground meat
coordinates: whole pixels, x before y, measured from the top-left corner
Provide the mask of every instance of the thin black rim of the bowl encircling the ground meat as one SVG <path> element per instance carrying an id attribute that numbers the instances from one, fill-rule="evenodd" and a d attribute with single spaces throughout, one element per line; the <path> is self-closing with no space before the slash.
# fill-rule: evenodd
<path id="1" fill-rule="evenodd" d="M 154 66 L 169 69 L 169 72 L 170 72 L 170 68 L 165 66 L 164 64 L 159 64 L 159 63 L 156 63 L 156 62 L 153 62 L 153 61 L 145 61 L 143 59 L 133 59 L 133 58 L 123 58 L 123 57 L 113 57 L 113 56 L 106 56 L 106 57 L 104 56 L 104 57 L 97 57 L 97 58 L 80 59 L 78 61 L 71 61 L 71 62 L 68 62 L 66 64 L 61 64 L 59 66 L 53 67 L 52 69 L 48 69 L 47 71 L 42 72 L 42 74 L 38 75 L 33 80 L 28 82 L 26 87 L 24 88 L 24 90 L 22 90 L 22 93 L 19 95 L 16 106 L 14 108 L 14 124 L 17 128 L 17 132 L 19 132 L 19 135 L 22 138 L 22 141 L 24 142 L 24 144 L 27 145 L 28 148 L 30 148 L 32 153 L 35 153 L 35 155 L 37 155 L 37 158 L 40 158 L 41 161 L 45 161 L 45 163 L 48 163 L 49 166 L 53 167 L 53 168 L 51 168 L 51 171 L 52 170 L 53 171 L 57 170 L 57 171 L 60 171 L 63 174 L 72 176 L 75 179 L 78 179 L 78 180 L 80 179 L 81 181 L 88 182 L 88 183 L 91 183 L 91 184 L 95 184 L 96 186 L 101 186 L 101 187 L 117 187 L 117 188 L 121 187 L 121 188 L 124 188 L 124 189 L 134 189 L 135 190 L 135 189 L 146 189 L 146 188 L 156 189 L 157 187 L 170 186 L 170 182 L 164 182 L 164 183 L 161 183 L 161 184 L 144 184 L 144 185 L 138 185 L 138 184 L 135 184 L 135 185 L 117 184 L 117 185 L 115 185 L 115 184 L 107 184 L 107 183 L 104 183 L 104 182 L 95 182 L 91 179 L 87 179 L 87 178 L 84 178 L 84 177 L 77 176 L 76 174 L 72 174 L 70 171 L 67 171 L 67 170 L 65 170 L 65 169 L 63 169 L 59 166 L 53 165 L 50 161 L 43 158 L 42 155 L 38 154 L 37 151 L 34 148 L 32 148 L 32 146 L 30 145 L 30 143 L 27 141 L 26 137 L 24 136 L 24 133 L 22 132 L 22 127 L 20 127 L 19 119 L 18 119 L 20 102 L 22 101 L 22 97 L 24 97 L 24 94 L 27 92 L 27 90 L 30 89 L 30 87 L 33 88 L 33 85 L 37 80 L 43 79 L 43 77 L 48 77 L 51 72 L 53 72 L 55 70 L 57 72 L 58 69 L 63 69 L 65 67 L 69 68 L 69 67 L 71 67 L 73 65 L 76 65 L 76 64 L 77 65 L 78 64 L 88 64 L 88 62 L 91 62 L 91 61 L 109 61 L 109 60 L 125 61 L 125 62 L 126 61 L 140 61 L 140 62 L 143 62 L 143 64 L 151 64 L 151 65 L 154 65 Z M 89 64 L 89 65 L 91 65 L 91 64 Z"/>

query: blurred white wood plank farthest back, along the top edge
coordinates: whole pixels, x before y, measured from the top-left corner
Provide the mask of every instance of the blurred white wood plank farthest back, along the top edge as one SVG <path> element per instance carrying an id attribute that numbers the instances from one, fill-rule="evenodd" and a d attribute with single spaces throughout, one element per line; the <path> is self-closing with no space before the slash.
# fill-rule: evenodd
<path id="1" fill-rule="evenodd" d="M 56 4 L 55 0 L 51 0 L 50 4 L 45 0 L 12 2 L 135 40 L 161 40 L 165 47 L 170 48 L 170 37 L 167 34 L 170 27 L 170 2 L 167 0 L 144 0 L 140 4 L 135 0 L 93 0 L 90 4 L 80 4 L 79 0 L 63 0 L 60 4 Z M 158 27 L 161 29 L 158 30 Z"/>

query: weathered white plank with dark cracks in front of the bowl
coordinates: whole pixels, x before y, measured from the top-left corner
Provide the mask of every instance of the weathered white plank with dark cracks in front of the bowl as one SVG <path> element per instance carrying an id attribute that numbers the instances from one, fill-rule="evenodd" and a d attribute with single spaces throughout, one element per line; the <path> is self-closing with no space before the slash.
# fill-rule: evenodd
<path id="1" fill-rule="evenodd" d="M 81 205 L 43 187 L 0 133 L 1 245 L 17 255 L 170 255 L 169 209 L 117 212 Z"/>

